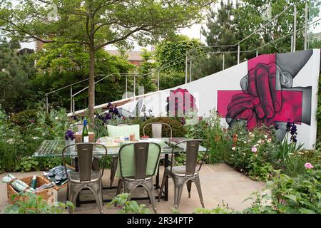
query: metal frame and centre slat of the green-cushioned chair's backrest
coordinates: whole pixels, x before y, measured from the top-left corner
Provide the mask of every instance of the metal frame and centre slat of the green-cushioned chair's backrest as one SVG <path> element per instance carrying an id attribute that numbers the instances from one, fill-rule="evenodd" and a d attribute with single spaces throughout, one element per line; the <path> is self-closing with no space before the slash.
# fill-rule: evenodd
<path id="1" fill-rule="evenodd" d="M 150 145 L 156 145 L 158 147 L 158 154 L 156 154 L 156 160 L 148 161 L 148 155 L 150 152 Z M 120 162 L 120 171 L 121 171 L 121 177 L 123 177 L 123 150 L 133 145 L 133 162 L 134 162 L 134 178 L 135 179 L 144 179 L 148 176 L 153 176 L 156 173 L 157 167 L 158 167 L 158 161 L 159 157 L 161 155 L 161 146 L 154 142 L 136 142 L 136 143 L 128 143 L 126 145 L 121 146 L 121 149 L 119 150 L 119 162 Z M 147 167 L 148 162 L 155 162 L 155 167 L 153 167 L 153 173 L 147 175 Z"/>

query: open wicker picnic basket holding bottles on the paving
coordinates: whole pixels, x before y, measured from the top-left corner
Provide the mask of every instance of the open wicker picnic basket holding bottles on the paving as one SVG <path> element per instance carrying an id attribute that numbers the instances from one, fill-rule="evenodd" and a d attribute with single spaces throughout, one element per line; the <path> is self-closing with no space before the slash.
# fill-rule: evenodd
<path id="1" fill-rule="evenodd" d="M 32 177 L 19 178 L 19 180 L 25 182 L 27 185 L 30 186 Z M 48 184 L 48 183 L 50 183 L 50 180 L 47 180 L 46 177 L 37 176 L 36 187 L 40 187 L 41 185 Z M 19 192 L 16 192 L 16 190 L 11 185 L 7 185 L 6 188 L 7 188 L 7 195 L 8 195 L 8 200 L 10 204 L 14 204 L 14 202 L 16 202 L 16 200 L 18 199 L 21 201 L 25 201 L 25 200 L 28 200 L 29 198 L 29 197 L 16 196 L 14 197 L 13 200 L 11 200 L 11 197 L 13 195 L 19 194 Z M 57 191 L 55 190 L 54 187 L 51 187 L 46 190 L 41 190 L 37 192 L 36 195 L 40 195 L 42 199 L 46 200 L 47 204 L 49 205 L 53 205 L 57 201 Z"/>

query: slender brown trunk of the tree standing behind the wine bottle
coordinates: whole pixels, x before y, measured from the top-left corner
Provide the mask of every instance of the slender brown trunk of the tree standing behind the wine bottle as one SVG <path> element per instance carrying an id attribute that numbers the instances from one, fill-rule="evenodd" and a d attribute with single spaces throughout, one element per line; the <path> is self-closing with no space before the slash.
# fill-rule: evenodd
<path id="1" fill-rule="evenodd" d="M 93 42 L 89 45 L 89 53 L 88 109 L 91 123 L 95 123 L 95 48 Z"/>

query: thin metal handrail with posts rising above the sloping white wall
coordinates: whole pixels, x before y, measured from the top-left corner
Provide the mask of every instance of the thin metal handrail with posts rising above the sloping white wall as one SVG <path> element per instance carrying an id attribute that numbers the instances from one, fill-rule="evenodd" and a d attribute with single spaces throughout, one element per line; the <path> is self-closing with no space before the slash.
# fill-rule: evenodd
<path id="1" fill-rule="evenodd" d="M 297 4 L 302 4 L 305 2 L 305 26 L 300 28 L 300 29 L 297 29 Z M 205 55 L 208 55 L 208 54 L 212 54 L 212 53 L 215 53 L 215 54 L 222 54 L 223 56 L 223 63 L 222 63 L 222 69 L 224 70 L 225 69 L 225 53 L 237 53 L 237 64 L 240 63 L 240 53 L 250 53 L 250 52 L 253 52 L 253 51 L 256 51 L 256 56 L 258 56 L 258 50 L 260 48 L 263 48 L 267 45 L 270 45 L 272 43 L 275 43 L 277 41 L 280 41 L 282 38 L 286 38 L 287 36 L 290 36 L 292 35 L 292 45 L 291 45 L 291 51 L 294 52 L 296 50 L 296 36 L 297 36 L 297 31 L 300 31 L 302 30 L 303 28 L 305 29 L 305 33 L 304 33 L 304 49 L 306 50 L 307 49 L 307 42 L 308 42 L 308 39 L 307 39 L 307 28 L 309 26 L 311 26 L 312 24 L 315 24 L 317 23 L 317 21 L 320 21 L 321 19 L 318 19 L 316 21 L 313 21 L 312 23 L 308 24 L 307 23 L 307 11 L 308 11 L 308 6 L 307 6 L 307 2 L 308 0 L 303 0 L 303 1 L 299 1 L 295 4 L 290 4 L 289 6 L 287 6 L 285 9 L 283 9 L 280 14 L 277 14 L 273 19 L 271 19 L 270 21 L 267 21 L 267 23 L 265 23 L 263 26 L 260 26 L 260 28 L 258 28 L 257 30 L 253 31 L 253 33 L 250 33 L 248 36 L 246 36 L 245 38 L 243 38 L 242 40 L 238 41 L 238 43 L 235 43 L 233 45 L 224 45 L 224 46 L 203 46 L 203 48 L 226 48 L 226 47 L 235 47 L 237 46 L 237 51 L 208 51 L 208 52 L 205 52 L 205 53 L 201 53 L 200 55 L 198 56 L 190 56 L 190 58 L 188 58 L 188 53 L 186 53 L 185 55 L 183 56 L 180 56 L 178 58 L 175 58 L 173 61 L 170 61 L 168 63 L 165 63 L 163 66 L 160 66 L 156 69 L 153 69 L 152 72 L 150 73 L 145 73 L 145 74 L 138 74 L 138 73 L 112 73 L 112 74 L 99 74 L 97 76 L 95 76 L 94 78 L 97 78 L 98 76 L 105 76 L 101 79 L 99 79 L 98 81 L 96 81 L 94 84 L 96 85 L 96 83 L 99 83 L 101 81 L 103 81 L 105 78 L 108 78 L 110 76 L 126 76 L 126 98 L 127 98 L 127 95 L 128 95 L 128 76 L 132 76 L 133 77 L 133 98 L 135 98 L 135 92 L 136 92 L 136 77 L 141 77 L 141 76 L 150 76 L 150 75 L 153 75 L 155 73 L 155 71 L 157 72 L 157 90 L 160 90 L 160 72 L 163 71 L 164 69 L 166 68 L 170 68 L 170 67 L 173 67 L 177 64 L 180 64 L 180 63 L 183 63 L 185 61 L 185 83 L 188 83 L 188 71 L 189 71 L 189 78 L 190 78 L 190 82 L 192 81 L 192 65 L 193 65 L 193 59 L 195 58 L 200 58 L 202 56 L 205 56 Z M 250 38 L 251 36 L 253 36 L 254 34 L 260 32 L 265 26 L 267 26 L 268 24 L 271 24 L 272 21 L 275 21 L 276 19 L 278 19 L 282 14 L 285 14 L 285 12 L 290 9 L 291 7 L 294 8 L 294 11 L 293 11 L 293 30 L 291 33 L 287 33 L 285 36 L 282 36 L 280 38 L 277 38 L 275 41 L 272 41 L 270 43 L 265 43 L 263 46 L 260 46 L 258 48 L 254 48 L 253 50 L 250 50 L 250 51 L 240 51 L 240 43 L 242 43 L 243 41 L 247 40 L 248 38 Z M 180 59 L 180 61 L 178 61 Z M 188 62 L 189 62 L 189 69 L 188 69 Z M 62 88 L 58 88 L 57 90 L 54 90 L 54 91 L 51 91 L 49 93 L 46 93 L 46 110 L 47 112 L 49 111 L 49 95 L 52 94 L 52 93 L 56 93 L 58 92 L 59 90 L 63 90 L 63 89 L 66 89 L 66 88 L 70 88 L 70 95 L 71 95 L 71 113 L 75 112 L 75 96 L 78 95 L 79 93 L 83 92 L 84 90 L 87 90 L 88 89 L 88 86 L 86 88 L 83 88 L 81 90 L 79 90 L 78 92 L 76 93 L 73 93 L 73 86 L 75 86 L 76 84 L 78 83 L 82 83 L 84 81 L 88 81 L 89 78 L 86 78 L 82 81 L 78 81 L 76 83 L 72 83 L 68 86 L 63 86 Z"/>

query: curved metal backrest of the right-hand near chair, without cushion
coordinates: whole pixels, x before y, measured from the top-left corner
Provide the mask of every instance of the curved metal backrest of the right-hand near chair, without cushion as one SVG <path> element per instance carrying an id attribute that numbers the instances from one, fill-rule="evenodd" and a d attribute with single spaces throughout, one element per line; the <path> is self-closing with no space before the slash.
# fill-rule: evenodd
<path id="1" fill-rule="evenodd" d="M 200 139 L 193 139 L 193 140 L 183 140 L 175 144 L 175 147 L 178 146 L 180 143 L 186 143 L 186 169 L 185 169 L 185 175 L 193 175 L 195 173 L 196 166 L 198 164 L 198 151 L 200 148 L 200 142 L 203 142 L 206 140 L 200 140 Z M 172 172 L 173 168 L 173 154 L 175 153 L 175 147 L 173 147 L 172 150 L 172 159 L 171 159 L 171 166 L 170 166 L 170 172 Z M 208 153 L 208 147 L 206 148 L 205 155 L 203 156 L 202 162 L 200 163 L 200 167 L 203 165 L 203 161 L 205 160 L 205 157 Z M 200 167 L 198 171 L 200 170 Z"/>

